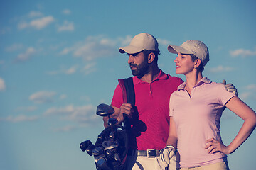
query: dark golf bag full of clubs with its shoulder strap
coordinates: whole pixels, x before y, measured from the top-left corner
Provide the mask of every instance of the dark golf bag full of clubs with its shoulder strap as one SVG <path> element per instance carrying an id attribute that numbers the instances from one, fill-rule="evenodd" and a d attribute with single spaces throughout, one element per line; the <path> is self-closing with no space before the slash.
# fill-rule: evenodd
<path id="1" fill-rule="evenodd" d="M 124 103 L 135 103 L 134 84 L 132 77 L 118 79 L 121 86 Z M 100 104 L 97 115 L 110 116 L 114 113 L 111 106 Z M 98 170 L 124 170 L 128 152 L 128 132 L 131 128 L 127 115 L 124 114 L 124 125 L 117 125 L 117 120 L 109 118 L 108 127 L 98 135 L 95 145 L 87 140 L 80 144 L 80 148 L 90 156 L 94 155 Z"/>

